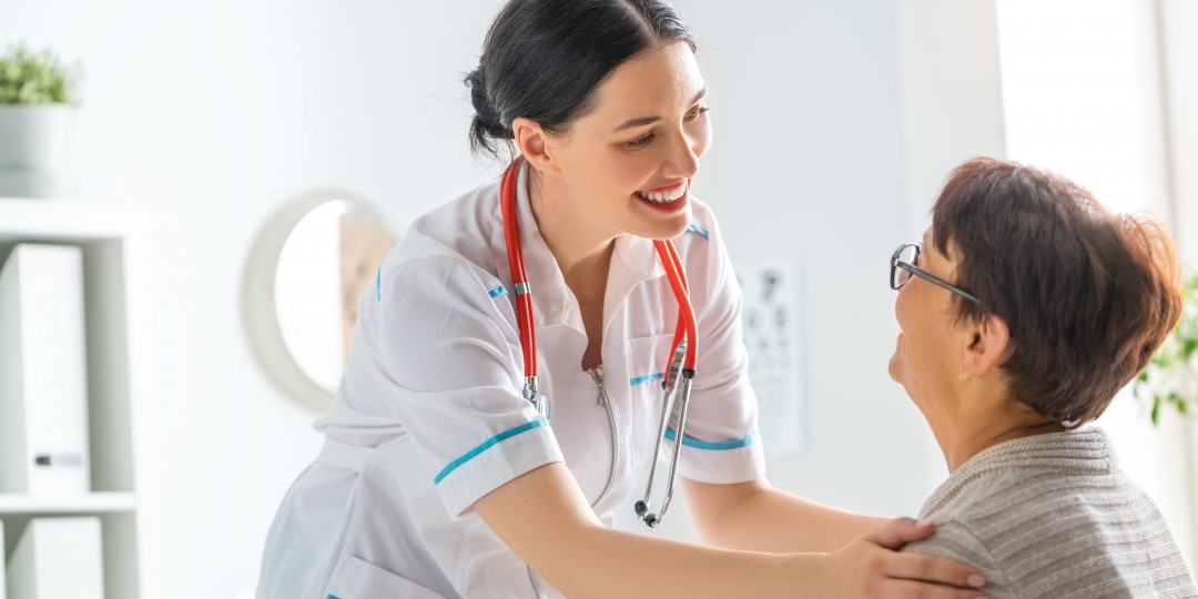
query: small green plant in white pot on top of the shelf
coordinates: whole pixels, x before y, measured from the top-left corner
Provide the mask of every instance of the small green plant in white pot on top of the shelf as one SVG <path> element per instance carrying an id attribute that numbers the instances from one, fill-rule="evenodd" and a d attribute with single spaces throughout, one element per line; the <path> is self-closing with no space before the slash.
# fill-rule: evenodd
<path id="1" fill-rule="evenodd" d="M 24 44 L 0 55 L 0 195 L 66 194 L 79 68 Z"/>

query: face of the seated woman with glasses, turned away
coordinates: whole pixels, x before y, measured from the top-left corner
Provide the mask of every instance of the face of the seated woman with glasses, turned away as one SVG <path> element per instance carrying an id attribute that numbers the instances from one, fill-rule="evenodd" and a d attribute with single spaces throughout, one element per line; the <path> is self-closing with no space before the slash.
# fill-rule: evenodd
<path id="1" fill-rule="evenodd" d="M 957 261 L 937 252 L 931 230 L 924 235 L 918 262 L 915 266 L 936 277 L 956 280 Z M 903 386 L 930 420 L 954 397 L 955 382 L 961 379 L 964 343 L 955 301 L 952 292 L 920 277 L 912 277 L 895 300 L 902 331 L 890 357 L 890 377 Z"/>

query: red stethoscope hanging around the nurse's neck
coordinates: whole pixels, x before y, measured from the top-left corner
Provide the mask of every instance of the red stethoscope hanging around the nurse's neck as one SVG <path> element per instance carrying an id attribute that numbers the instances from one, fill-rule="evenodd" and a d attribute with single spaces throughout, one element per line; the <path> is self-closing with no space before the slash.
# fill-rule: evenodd
<path id="1" fill-rule="evenodd" d="M 516 179 L 520 175 L 520 167 L 524 161 L 515 159 L 503 174 L 500 182 L 500 207 L 503 214 L 503 237 L 508 249 L 508 267 L 512 271 L 513 295 L 516 303 L 516 321 L 520 325 L 520 346 L 524 350 L 525 383 L 522 395 L 531 401 L 545 419 L 550 417 L 549 397 L 538 395 L 537 385 L 537 332 L 532 311 L 532 288 L 528 285 L 528 274 L 525 272 L 524 252 L 520 248 L 520 235 L 516 231 Z M 686 273 L 683 271 L 682 260 L 678 258 L 678 249 L 670 240 L 654 240 L 653 247 L 658 252 L 661 266 L 665 267 L 666 278 L 670 279 L 670 288 L 678 301 L 678 326 L 674 328 L 673 344 L 670 356 L 666 358 L 666 375 L 661 382 L 661 425 L 658 429 L 658 442 L 653 449 L 653 466 L 649 470 L 649 483 L 645 489 L 645 498 L 636 502 L 636 515 L 649 527 L 661 522 L 673 497 L 674 473 L 678 470 L 678 453 L 683 446 L 683 434 L 686 426 L 686 406 L 690 404 L 690 386 L 695 379 L 695 357 L 698 353 L 698 338 L 696 335 L 695 310 L 690 305 L 690 296 L 686 291 Z M 658 456 L 661 452 L 661 442 L 666 437 L 670 424 L 670 415 L 673 410 L 673 400 L 678 381 L 682 380 L 682 391 L 678 393 L 678 428 L 674 436 L 673 456 L 670 460 L 670 476 L 666 483 L 666 496 L 661 503 L 661 512 L 651 513 L 651 496 L 653 494 L 653 478 L 658 470 Z"/>

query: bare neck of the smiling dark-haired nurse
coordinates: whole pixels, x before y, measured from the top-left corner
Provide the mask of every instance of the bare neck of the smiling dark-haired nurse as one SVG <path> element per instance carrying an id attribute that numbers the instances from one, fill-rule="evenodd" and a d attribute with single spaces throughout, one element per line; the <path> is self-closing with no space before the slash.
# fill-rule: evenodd
<path id="1" fill-rule="evenodd" d="M 616 236 L 606 235 L 585 214 L 563 207 L 553 198 L 567 196 L 564 186 L 551 177 L 528 169 L 528 201 L 545 246 L 553 254 L 565 284 L 581 300 L 606 288 Z M 601 297 L 601 296 L 600 296 Z"/>

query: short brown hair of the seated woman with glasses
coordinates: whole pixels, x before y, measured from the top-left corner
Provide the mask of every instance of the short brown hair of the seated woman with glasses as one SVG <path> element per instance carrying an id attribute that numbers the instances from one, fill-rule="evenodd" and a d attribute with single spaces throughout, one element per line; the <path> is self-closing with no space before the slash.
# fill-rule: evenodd
<path id="1" fill-rule="evenodd" d="M 1097 418 L 1181 315 L 1180 268 L 1160 220 L 1118 214 L 1039 169 L 975 158 L 932 208 L 936 248 L 960 259 L 962 320 L 1002 317 L 1015 399 L 1073 428 Z"/>

